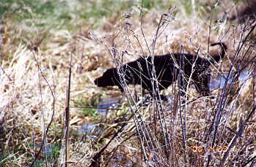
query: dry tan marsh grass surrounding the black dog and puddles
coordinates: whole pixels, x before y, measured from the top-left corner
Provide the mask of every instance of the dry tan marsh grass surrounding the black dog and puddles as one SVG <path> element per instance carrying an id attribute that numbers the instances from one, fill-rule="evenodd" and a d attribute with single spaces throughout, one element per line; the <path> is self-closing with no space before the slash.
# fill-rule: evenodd
<path id="1" fill-rule="evenodd" d="M 70 55 L 73 54 L 70 105 L 92 104 L 88 101 L 97 101 L 99 97 L 120 97 L 122 104 L 120 111 L 111 110 L 106 118 L 100 115 L 86 117 L 81 109 L 70 108 L 70 166 L 89 166 L 95 153 L 117 132 L 98 158 L 101 166 L 207 166 L 208 163 L 208 166 L 220 166 L 225 154 L 220 149 L 226 147 L 232 149 L 224 166 L 243 166 L 246 163 L 253 166 L 256 156 L 256 117 L 253 111 L 256 50 L 252 37 L 238 52 L 238 46 L 253 24 L 215 22 L 222 19 L 223 11 L 231 9 L 231 2 L 213 10 L 211 25 L 211 13 L 207 8 L 194 10 L 189 15 L 185 4 L 174 3 L 177 7 L 170 11 L 150 9 L 142 26 L 140 11 L 136 7 L 130 12 L 103 18 L 98 29 L 81 22 L 82 28 L 75 32 L 38 28 L 32 36 L 34 30 L 5 21 L 0 27 L 0 163 L 3 166 L 31 165 L 55 111 L 45 138 L 45 144 L 54 147 L 52 150 L 55 151 L 47 156 L 47 161 L 48 166 L 62 166 L 66 86 Z M 223 63 L 213 67 L 213 79 L 222 76 L 223 72 L 235 73 L 244 68 L 249 71 L 247 79 L 241 81 L 238 78 L 233 85 L 213 90 L 214 99 L 198 98 L 194 89 L 189 89 L 191 102 L 186 106 L 172 101 L 162 102 L 161 107 L 153 103 L 139 109 L 133 95 L 122 94 L 116 88 L 97 88 L 93 80 L 106 69 L 116 66 L 114 61 L 122 58 L 122 63 L 125 63 L 152 52 L 152 41 L 163 13 L 168 15 L 156 40 L 156 55 L 199 51 L 200 55 L 207 57 L 208 44 L 222 40 L 230 49 Z M 252 34 L 256 34 L 255 30 Z M 111 47 L 116 50 L 117 58 L 113 59 L 109 54 Z M 210 52 L 214 51 L 216 48 Z M 122 53 L 125 53 L 123 57 Z M 175 88 L 173 85 L 163 93 L 173 96 L 178 102 Z M 134 88 L 128 89 L 134 93 Z M 251 111 L 251 117 L 243 124 Z M 84 123 L 95 123 L 92 133 L 79 132 Z M 119 131 L 121 127 L 122 131 Z M 239 128 L 244 131 L 238 135 Z M 235 136 L 237 139 L 232 145 Z M 46 166 L 43 152 L 35 166 Z"/>

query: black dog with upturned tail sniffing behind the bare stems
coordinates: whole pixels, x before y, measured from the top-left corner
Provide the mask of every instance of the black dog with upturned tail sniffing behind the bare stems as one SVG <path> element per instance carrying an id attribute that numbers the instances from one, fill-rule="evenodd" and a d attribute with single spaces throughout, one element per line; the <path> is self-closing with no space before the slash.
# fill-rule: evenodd
<path id="1" fill-rule="evenodd" d="M 108 69 L 102 77 L 95 79 L 94 82 L 99 87 L 117 85 L 121 91 L 123 91 L 124 82 L 133 85 L 139 84 L 152 94 L 156 90 L 156 80 L 158 82 L 158 89 L 163 90 L 168 88 L 180 76 L 180 88 L 183 95 L 186 92 L 189 78 L 191 78 L 191 82 L 195 85 L 197 91 L 202 96 L 209 96 L 209 83 L 211 79 L 210 65 L 224 58 L 227 50 L 227 46 L 221 42 L 211 44 L 211 46 L 217 44 L 222 47 L 222 53 L 212 55 L 212 58 L 209 60 L 188 53 L 156 55 L 153 61 L 156 71 L 156 75 L 154 75 L 152 57 L 149 56 L 127 63 L 120 67 L 120 69 Z M 156 76 L 156 78 L 153 79 L 153 76 Z"/>

